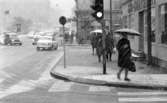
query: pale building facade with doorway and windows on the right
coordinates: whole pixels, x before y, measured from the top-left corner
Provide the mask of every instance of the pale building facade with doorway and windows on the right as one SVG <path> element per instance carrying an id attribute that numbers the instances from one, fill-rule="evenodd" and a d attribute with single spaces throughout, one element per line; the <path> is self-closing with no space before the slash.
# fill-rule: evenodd
<path id="1" fill-rule="evenodd" d="M 167 66 L 167 0 L 152 0 L 151 42 L 154 64 Z M 147 55 L 147 0 L 125 0 L 122 3 L 122 24 L 141 33 L 129 37 L 132 49 Z"/>

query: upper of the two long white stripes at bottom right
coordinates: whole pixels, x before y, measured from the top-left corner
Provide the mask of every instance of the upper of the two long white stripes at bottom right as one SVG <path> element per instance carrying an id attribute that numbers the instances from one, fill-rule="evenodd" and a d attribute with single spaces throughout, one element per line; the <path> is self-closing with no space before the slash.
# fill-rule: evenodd
<path id="1" fill-rule="evenodd" d="M 118 92 L 119 96 L 151 96 L 151 95 L 167 95 L 167 92 Z"/>

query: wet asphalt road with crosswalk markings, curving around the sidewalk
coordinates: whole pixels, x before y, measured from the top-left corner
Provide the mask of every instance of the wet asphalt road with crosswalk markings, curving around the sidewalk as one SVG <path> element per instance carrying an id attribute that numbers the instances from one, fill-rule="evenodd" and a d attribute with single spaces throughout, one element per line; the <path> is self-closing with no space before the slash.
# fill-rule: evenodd
<path id="1" fill-rule="evenodd" d="M 166 103 L 164 91 L 78 84 L 53 79 L 49 71 L 62 53 L 23 46 L 0 47 L 0 103 Z M 126 94 L 126 95 L 125 95 Z M 127 95 L 128 94 L 128 95 Z"/>

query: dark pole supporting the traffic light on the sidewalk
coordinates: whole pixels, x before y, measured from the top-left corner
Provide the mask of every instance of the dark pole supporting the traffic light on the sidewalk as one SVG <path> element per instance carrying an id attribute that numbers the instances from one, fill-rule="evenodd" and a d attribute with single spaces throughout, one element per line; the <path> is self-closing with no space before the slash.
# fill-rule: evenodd
<path id="1" fill-rule="evenodd" d="M 102 43 L 103 43 L 103 74 L 106 74 L 106 32 L 105 32 L 105 21 L 101 20 L 101 25 L 102 25 L 102 31 L 103 31 L 103 36 L 102 36 Z"/>

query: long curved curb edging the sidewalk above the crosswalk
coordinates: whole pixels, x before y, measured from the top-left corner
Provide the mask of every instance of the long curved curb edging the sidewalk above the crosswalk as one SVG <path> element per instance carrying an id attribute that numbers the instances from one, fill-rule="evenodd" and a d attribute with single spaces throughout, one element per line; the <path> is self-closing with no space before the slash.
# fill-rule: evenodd
<path id="1" fill-rule="evenodd" d="M 87 79 L 82 77 L 69 76 L 57 72 L 50 72 L 51 76 L 56 79 L 61 79 L 65 81 L 71 81 L 82 84 L 90 84 L 90 85 L 99 85 L 99 86 L 112 86 L 112 87 L 120 87 L 120 88 L 135 88 L 135 89 L 150 89 L 150 90 L 167 90 L 167 86 L 164 85 L 151 85 L 151 84 L 138 84 L 131 82 L 107 82 L 103 80 L 94 80 Z"/>

